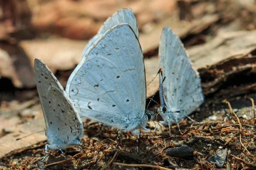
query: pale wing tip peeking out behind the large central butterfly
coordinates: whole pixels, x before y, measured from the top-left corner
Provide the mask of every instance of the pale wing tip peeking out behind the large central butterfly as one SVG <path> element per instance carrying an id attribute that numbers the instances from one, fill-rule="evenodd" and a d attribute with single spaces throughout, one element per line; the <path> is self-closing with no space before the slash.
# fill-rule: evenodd
<path id="1" fill-rule="evenodd" d="M 110 28 L 122 24 L 127 23 L 131 26 L 133 31 L 135 32 L 136 36 L 139 38 L 139 31 L 137 28 L 137 21 L 136 17 L 132 11 L 131 8 L 124 8 L 120 9 L 119 11 L 115 12 L 111 17 L 108 17 L 108 19 L 102 24 L 102 26 L 99 28 L 98 33 L 90 39 L 88 44 L 85 46 L 82 57 L 84 57 L 86 51 L 100 38 L 102 35 L 104 35 Z"/>

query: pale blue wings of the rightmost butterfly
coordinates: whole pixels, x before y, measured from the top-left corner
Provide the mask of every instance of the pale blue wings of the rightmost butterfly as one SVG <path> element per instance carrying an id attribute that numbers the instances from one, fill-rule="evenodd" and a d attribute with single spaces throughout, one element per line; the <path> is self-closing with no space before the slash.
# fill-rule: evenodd
<path id="1" fill-rule="evenodd" d="M 186 115 L 195 111 L 204 101 L 201 79 L 179 37 L 164 27 L 159 45 L 160 67 L 163 67 L 163 99 L 169 108 L 184 110 Z"/>

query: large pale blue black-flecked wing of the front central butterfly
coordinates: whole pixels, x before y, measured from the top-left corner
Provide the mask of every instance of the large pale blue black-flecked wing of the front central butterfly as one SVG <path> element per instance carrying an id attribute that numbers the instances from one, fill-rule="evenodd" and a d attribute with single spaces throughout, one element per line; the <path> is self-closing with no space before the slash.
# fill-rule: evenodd
<path id="1" fill-rule="evenodd" d="M 145 113 L 145 67 L 133 29 L 128 24 L 111 28 L 85 57 L 66 87 L 79 115 L 120 129 L 141 118 Z"/>

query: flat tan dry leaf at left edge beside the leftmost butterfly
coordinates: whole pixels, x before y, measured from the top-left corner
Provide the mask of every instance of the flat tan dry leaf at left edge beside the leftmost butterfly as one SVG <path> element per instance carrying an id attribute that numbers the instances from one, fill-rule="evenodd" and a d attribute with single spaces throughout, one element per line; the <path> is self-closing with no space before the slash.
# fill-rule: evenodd
<path id="1" fill-rule="evenodd" d="M 16 141 L 17 138 L 44 130 L 45 128 L 44 116 L 41 111 L 40 104 L 37 104 L 29 109 L 26 108 L 18 113 L 20 114 L 17 114 L 16 111 L 12 111 L 9 113 L 0 114 L 0 131 L 8 132 L 7 134 L 5 133 L 4 135 L 0 136 L 0 159 L 13 150 L 29 147 L 32 144 L 36 144 L 47 139 L 45 133 L 40 132 Z M 34 118 L 21 121 L 22 117 L 19 115 L 23 115 L 23 113 L 26 115 L 30 114 Z"/>

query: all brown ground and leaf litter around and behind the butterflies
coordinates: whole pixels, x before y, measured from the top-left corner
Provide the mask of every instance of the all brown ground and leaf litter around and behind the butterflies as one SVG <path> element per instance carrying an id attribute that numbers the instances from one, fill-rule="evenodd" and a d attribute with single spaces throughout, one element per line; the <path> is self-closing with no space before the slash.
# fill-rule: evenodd
<path id="1" fill-rule="evenodd" d="M 256 2 L 254 0 L 0 1 L 0 169 L 256 169 Z M 42 59 L 65 87 L 81 51 L 115 11 L 137 18 L 147 84 L 158 71 L 163 26 L 181 38 L 198 70 L 205 101 L 155 136 L 123 133 L 83 119 L 80 147 L 49 150 L 33 63 Z M 147 88 L 147 103 L 159 82 Z M 154 96 L 159 101 L 159 94 Z M 150 110 L 157 105 L 151 102 Z M 161 117 L 148 122 L 152 131 Z M 17 138 L 35 133 L 26 138 Z M 66 159 L 64 159 L 64 156 Z"/>

